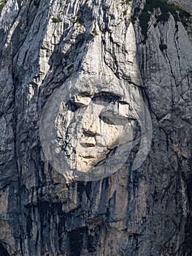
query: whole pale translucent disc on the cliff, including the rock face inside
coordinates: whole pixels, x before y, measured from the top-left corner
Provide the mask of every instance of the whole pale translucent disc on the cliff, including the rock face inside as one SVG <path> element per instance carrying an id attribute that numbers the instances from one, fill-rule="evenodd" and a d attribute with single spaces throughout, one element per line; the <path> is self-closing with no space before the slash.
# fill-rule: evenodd
<path id="1" fill-rule="evenodd" d="M 113 84 L 96 76 L 89 80 L 69 80 L 56 90 L 46 102 L 40 121 L 45 157 L 70 181 L 101 180 L 112 175 L 126 162 L 131 163 L 131 149 L 139 146 L 132 163 L 135 170 L 150 151 L 151 116 L 138 90 L 131 91 L 129 85 L 119 84 L 115 78 Z M 83 91 L 87 86 L 89 91 Z M 95 92 L 91 92 L 93 88 Z"/>

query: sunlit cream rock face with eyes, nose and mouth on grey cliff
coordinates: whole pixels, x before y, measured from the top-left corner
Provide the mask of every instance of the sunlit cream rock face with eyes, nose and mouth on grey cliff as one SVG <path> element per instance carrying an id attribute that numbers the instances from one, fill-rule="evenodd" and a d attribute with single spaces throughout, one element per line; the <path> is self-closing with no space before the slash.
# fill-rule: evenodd
<path id="1" fill-rule="evenodd" d="M 92 99 L 77 95 L 67 102 L 67 107 L 67 113 L 64 109 L 60 112 L 64 113 L 63 124 L 67 123 L 70 116 L 72 120 L 69 127 L 64 127 L 67 129 L 65 134 L 60 131 L 60 125 L 58 132 L 61 138 L 66 138 L 64 151 L 69 156 L 71 168 L 88 172 L 91 167 L 106 160 L 110 153 L 115 153 L 120 141 L 131 141 L 131 130 L 128 129 L 131 127 L 128 121 L 128 103 L 125 105 L 116 101 L 113 95 L 100 93 Z M 61 124 L 59 117 L 58 122 Z"/>

